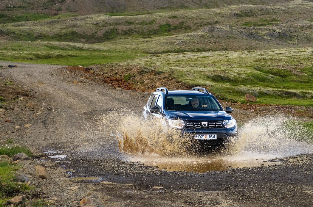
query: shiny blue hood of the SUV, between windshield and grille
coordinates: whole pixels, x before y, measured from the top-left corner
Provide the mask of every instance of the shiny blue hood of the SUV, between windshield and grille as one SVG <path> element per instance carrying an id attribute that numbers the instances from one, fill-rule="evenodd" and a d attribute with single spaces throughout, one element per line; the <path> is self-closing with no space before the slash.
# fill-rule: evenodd
<path id="1" fill-rule="evenodd" d="M 233 117 L 225 111 L 167 111 L 168 118 L 175 118 L 181 120 L 227 120 Z"/>

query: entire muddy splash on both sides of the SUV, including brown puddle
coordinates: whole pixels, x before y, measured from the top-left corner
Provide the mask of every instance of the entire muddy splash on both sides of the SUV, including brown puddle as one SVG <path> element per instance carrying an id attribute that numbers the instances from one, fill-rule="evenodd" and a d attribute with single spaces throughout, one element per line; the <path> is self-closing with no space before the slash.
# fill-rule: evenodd
<path id="1" fill-rule="evenodd" d="M 125 160 L 157 165 L 159 169 L 206 172 L 231 167 L 273 164 L 275 157 L 313 153 L 313 140 L 296 121 L 282 116 L 265 116 L 245 123 L 238 140 L 208 155 L 195 155 L 197 148 L 190 137 L 166 127 L 160 119 L 143 120 L 140 116 L 112 112 L 100 123 L 110 127 L 119 139 Z"/>

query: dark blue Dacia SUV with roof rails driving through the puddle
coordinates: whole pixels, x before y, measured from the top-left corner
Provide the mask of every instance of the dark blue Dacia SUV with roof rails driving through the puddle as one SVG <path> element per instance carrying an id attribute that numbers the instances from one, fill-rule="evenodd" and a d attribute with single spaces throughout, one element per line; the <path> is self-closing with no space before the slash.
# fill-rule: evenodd
<path id="1" fill-rule="evenodd" d="M 205 88 L 167 90 L 157 88 L 143 108 L 143 115 L 163 117 L 169 126 L 189 133 L 195 142 L 223 145 L 237 134 L 237 122 L 231 107 L 223 109 Z"/>

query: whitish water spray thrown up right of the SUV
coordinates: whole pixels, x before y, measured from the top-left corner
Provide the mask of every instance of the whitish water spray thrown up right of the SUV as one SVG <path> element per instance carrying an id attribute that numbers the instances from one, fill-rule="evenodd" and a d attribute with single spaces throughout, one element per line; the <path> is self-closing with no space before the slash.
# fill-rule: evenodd
<path id="1" fill-rule="evenodd" d="M 290 117 L 265 116 L 245 123 L 229 152 L 249 151 L 276 157 L 313 153 L 312 132 Z"/>

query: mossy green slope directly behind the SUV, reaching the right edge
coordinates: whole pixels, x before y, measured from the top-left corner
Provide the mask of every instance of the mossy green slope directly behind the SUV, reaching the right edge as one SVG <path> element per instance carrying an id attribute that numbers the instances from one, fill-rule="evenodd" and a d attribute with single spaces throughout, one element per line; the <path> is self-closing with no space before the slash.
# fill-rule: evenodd
<path id="1" fill-rule="evenodd" d="M 208 86 L 226 101 L 244 102 L 249 93 L 258 97 L 258 103 L 313 106 L 312 57 L 312 48 L 188 52 L 142 57 L 115 66 L 156 70 L 192 86 Z M 108 68 L 114 65 L 103 66 L 105 71 Z"/>

